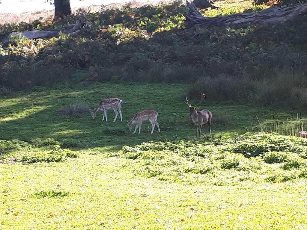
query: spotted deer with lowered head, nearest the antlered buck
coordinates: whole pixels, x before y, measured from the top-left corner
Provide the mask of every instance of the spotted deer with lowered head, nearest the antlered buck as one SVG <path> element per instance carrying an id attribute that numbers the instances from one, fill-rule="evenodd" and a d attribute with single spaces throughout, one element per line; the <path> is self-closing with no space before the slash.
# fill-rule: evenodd
<path id="1" fill-rule="evenodd" d="M 158 112 L 154 110 L 144 110 L 144 111 L 141 111 L 135 114 L 130 122 L 127 121 L 127 126 L 129 130 L 131 131 L 132 125 L 136 124 L 133 134 L 136 132 L 137 128 L 138 128 L 138 134 L 140 134 L 142 122 L 148 120 L 152 125 L 150 134 L 153 133 L 153 130 L 156 125 L 158 127 L 158 131 L 160 132 L 160 127 L 159 127 L 159 123 L 157 122 L 157 117 L 158 117 Z"/>

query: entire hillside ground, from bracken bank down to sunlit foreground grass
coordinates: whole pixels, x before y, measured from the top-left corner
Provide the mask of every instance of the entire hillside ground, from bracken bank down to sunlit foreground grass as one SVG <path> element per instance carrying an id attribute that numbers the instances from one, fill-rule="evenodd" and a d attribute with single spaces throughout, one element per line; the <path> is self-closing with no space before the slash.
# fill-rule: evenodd
<path id="1" fill-rule="evenodd" d="M 266 7 L 216 5 L 201 13 Z M 307 121 L 307 17 L 186 29 L 186 10 L 123 5 L 0 26 L 1 40 L 91 23 L 0 46 L 1 230 L 307 228 L 307 139 L 297 137 Z M 122 121 L 113 109 L 108 121 L 91 116 L 106 98 L 122 100 Z M 211 112 L 211 134 L 207 117 L 196 138 L 200 113 L 186 100 Z M 148 109 L 161 132 L 143 121 L 133 134 L 127 122 Z"/>

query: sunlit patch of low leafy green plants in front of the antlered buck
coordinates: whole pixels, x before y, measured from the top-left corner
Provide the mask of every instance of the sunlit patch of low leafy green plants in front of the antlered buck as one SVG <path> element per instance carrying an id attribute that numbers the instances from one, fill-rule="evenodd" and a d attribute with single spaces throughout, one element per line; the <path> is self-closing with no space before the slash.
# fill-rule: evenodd
<path id="1" fill-rule="evenodd" d="M 307 140 L 269 133 L 245 133 L 205 143 L 187 141 L 145 142 L 123 146 L 109 157 L 138 162 L 136 175 L 177 183 L 201 183 L 210 178 L 216 185 L 240 181 L 285 182 L 306 178 Z"/>

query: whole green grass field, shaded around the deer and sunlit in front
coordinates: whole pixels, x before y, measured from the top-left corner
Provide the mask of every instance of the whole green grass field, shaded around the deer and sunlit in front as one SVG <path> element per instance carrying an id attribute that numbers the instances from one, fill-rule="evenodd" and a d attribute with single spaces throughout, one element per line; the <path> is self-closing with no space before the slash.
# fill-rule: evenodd
<path id="1" fill-rule="evenodd" d="M 280 161 L 298 161 L 300 168 L 282 169 L 284 163 L 243 156 L 237 160 L 218 150 L 210 155 L 212 169 L 207 172 L 198 169 L 208 164 L 206 158 L 183 157 L 177 150 L 153 149 L 144 155 L 138 150 L 119 151 L 123 145 L 150 140 L 195 142 L 196 127 L 184 104 L 188 87 L 105 83 L 73 89 L 40 87 L 2 96 L 0 139 L 35 143 L 37 138 L 52 137 L 62 148 L 78 151 L 79 157 L 30 164 L 21 163 L 20 155 L 41 154 L 54 147 L 32 145 L 4 152 L 0 229 L 305 229 L 303 155 Z M 122 98 L 122 122 L 113 123 L 111 111 L 109 122 L 101 121 L 102 113 L 95 120 L 89 112 L 57 115 L 77 101 L 94 108 L 101 96 Z M 251 130 L 251 123 L 257 131 L 256 116 L 270 122 L 274 116 L 282 119 L 296 112 L 252 103 L 217 103 L 207 97 L 201 108 L 212 111 L 213 136 L 204 130 L 200 143 L 237 136 Z M 150 135 L 145 124 L 140 135 L 128 132 L 126 121 L 142 109 L 158 111 L 161 133 L 155 130 Z M 16 163 L 10 161 L 14 158 Z M 227 168 L 228 161 L 238 164 Z"/>

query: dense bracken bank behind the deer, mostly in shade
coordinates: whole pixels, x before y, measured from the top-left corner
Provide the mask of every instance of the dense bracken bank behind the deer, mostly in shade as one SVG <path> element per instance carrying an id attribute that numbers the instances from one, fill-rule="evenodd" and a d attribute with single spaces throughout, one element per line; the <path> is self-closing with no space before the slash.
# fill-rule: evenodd
<path id="1" fill-rule="evenodd" d="M 225 7 L 202 13 L 212 17 L 258 10 Z M 192 82 L 187 92 L 191 99 L 205 92 L 208 99 L 307 108 L 306 17 L 267 27 L 185 29 L 185 11 L 180 2 L 127 5 L 85 12 L 91 30 L 79 36 L 11 38 L 7 47 L 0 47 L 1 87 L 22 90 L 63 81 Z M 0 37 L 38 24 L 45 30 L 67 29 L 79 17 L 2 25 Z M 73 75 L 77 70 L 86 71 L 80 78 Z"/>

